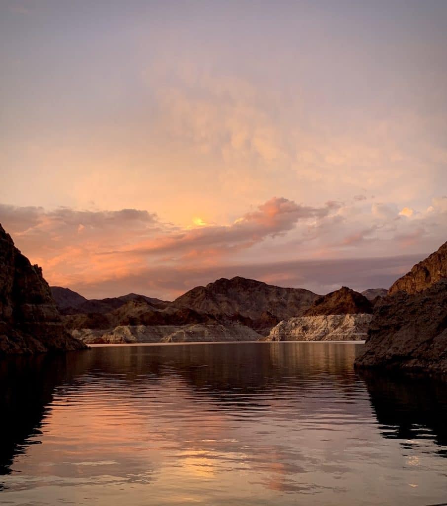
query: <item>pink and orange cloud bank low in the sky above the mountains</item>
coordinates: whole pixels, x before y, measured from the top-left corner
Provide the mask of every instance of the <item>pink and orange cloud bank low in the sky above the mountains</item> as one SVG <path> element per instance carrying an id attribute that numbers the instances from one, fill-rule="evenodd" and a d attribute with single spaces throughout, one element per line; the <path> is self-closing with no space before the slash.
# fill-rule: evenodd
<path id="1" fill-rule="evenodd" d="M 422 210 L 353 196 L 307 206 L 273 197 L 226 224 L 189 226 L 139 209 L 0 205 L 0 223 L 50 284 L 86 297 L 172 299 L 218 277 L 326 293 L 388 287 L 445 240 L 447 197 Z"/>

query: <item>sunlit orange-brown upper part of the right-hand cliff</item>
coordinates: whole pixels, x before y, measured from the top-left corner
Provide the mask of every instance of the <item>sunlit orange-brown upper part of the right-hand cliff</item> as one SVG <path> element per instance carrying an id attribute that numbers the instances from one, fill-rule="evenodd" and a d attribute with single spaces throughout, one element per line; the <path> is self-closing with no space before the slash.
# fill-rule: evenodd
<path id="1" fill-rule="evenodd" d="M 388 293 L 390 295 L 398 291 L 416 293 L 445 278 L 447 278 L 447 242 L 425 260 L 413 266 L 405 276 L 395 281 Z"/>

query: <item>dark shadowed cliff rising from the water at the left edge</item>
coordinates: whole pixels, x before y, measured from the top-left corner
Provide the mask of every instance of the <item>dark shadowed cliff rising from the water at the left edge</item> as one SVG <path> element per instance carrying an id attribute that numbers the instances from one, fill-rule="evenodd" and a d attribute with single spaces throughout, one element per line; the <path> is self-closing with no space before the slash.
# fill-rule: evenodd
<path id="1" fill-rule="evenodd" d="M 0 225 L 0 353 L 81 348 L 66 331 L 41 269 Z"/>

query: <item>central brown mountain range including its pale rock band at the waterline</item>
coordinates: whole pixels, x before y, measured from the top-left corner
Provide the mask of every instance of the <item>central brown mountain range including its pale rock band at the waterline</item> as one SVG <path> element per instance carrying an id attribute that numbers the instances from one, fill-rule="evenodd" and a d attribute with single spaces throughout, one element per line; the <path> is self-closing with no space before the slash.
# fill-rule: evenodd
<path id="1" fill-rule="evenodd" d="M 197 286 L 172 303 L 136 294 L 81 301 L 71 290 L 55 292 L 61 305 L 67 299 L 71 304 L 61 309 L 67 328 L 88 343 L 126 339 L 191 341 L 194 336 L 213 340 L 212 332 L 204 330 L 207 326 L 214 328 L 216 341 L 222 340 L 224 328 L 228 329 L 227 339 L 233 336 L 236 341 L 253 341 L 268 335 L 282 319 L 303 314 L 318 298 L 309 290 L 281 288 L 241 277 Z M 154 330 L 156 326 L 163 326 L 163 332 Z M 170 338 L 168 331 L 175 336 Z"/>

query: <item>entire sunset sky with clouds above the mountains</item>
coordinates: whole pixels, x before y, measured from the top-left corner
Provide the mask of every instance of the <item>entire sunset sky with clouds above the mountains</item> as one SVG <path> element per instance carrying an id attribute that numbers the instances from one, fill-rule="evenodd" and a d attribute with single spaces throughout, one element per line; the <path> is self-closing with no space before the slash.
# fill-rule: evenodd
<path id="1" fill-rule="evenodd" d="M 447 2 L 0 3 L 0 223 L 52 285 L 389 287 L 447 239 Z"/>

